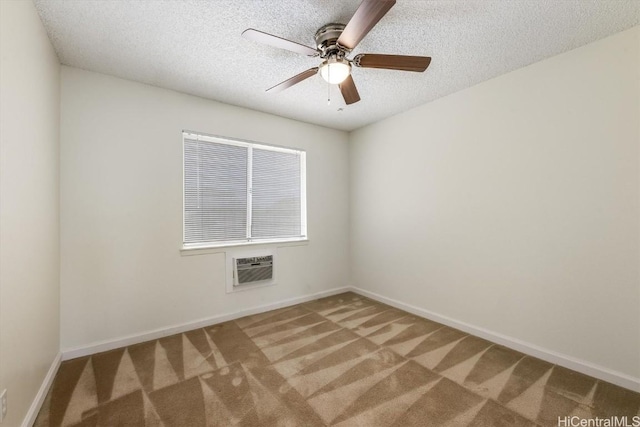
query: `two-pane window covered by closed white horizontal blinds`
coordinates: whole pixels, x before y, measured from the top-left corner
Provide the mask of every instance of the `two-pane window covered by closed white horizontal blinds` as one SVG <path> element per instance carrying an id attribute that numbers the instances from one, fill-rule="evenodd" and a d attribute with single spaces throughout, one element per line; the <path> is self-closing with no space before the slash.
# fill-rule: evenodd
<path id="1" fill-rule="evenodd" d="M 306 239 L 305 154 L 184 132 L 183 246 Z"/>

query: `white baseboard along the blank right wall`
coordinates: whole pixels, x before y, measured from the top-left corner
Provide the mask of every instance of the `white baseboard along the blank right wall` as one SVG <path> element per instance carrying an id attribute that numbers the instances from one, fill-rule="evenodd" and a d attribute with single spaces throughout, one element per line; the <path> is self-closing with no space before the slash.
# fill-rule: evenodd
<path id="1" fill-rule="evenodd" d="M 452 328 L 459 329 L 469 334 L 475 335 L 480 338 L 484 338 L 488 341 L 496 344 L 504 345 L 505 347 L 512 348 L 522 353 L 537 357 L 555 365 L 560 365 L 568 369 L 572 369 L 577 372 L 581 372 L 585 375 L 598 378 L 603 381 L 610 382 L 612 384 L 624 387 L 629 390 L 640 392 L 640 378 L 634 378 L 630 375 L 616 372 L 614 370 L 598 366 L 593 363 L 586 362 L 584 360 L 576 359 L 565 354 L 557 353 L 555 351 L 539 347 L 534 344 L 527 343 L 525 341 L 508 337 L 506 335 L 499 334 L 497 332 L 489 331 L 487 329 L 479 328 L 477 326 L 470 325 L 465 322 L 452 319 L 447 316 L 434 313 L 423 308 L 406 304 L 392 298 L 387 298 L 375 292 L 370 292 L 361 288 L 351 287 L 351 291 L 358 293 L 362 296 L 371 298 L 373 300 L 388 304 L 392 307 L 399 308 L 400 310 L 407 311 L 420 317 L 424 317 L 429 320 L 433 320 L 443 325 L 450 326 Z"/>

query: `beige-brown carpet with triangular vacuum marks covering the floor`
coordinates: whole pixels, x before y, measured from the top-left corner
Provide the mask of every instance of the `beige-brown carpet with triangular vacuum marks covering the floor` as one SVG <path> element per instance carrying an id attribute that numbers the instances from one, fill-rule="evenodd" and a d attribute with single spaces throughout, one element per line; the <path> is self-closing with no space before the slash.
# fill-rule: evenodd
<path id="1" fill-rule="evenodd" d="M 62 363 L 36 426 L 533 426 L 640 395 L 345 293 Z M 566 424 L 569 425 L 569 424 Z"/>

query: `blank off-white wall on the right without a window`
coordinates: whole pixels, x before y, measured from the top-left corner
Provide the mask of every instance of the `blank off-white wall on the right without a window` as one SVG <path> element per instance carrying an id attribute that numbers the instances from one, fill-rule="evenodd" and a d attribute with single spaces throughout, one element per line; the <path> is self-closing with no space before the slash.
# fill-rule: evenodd
<path id="1" fill-rule="evenodd" d="M 638 381 L 639 39 L 352 133 L 354 285 Z"/>

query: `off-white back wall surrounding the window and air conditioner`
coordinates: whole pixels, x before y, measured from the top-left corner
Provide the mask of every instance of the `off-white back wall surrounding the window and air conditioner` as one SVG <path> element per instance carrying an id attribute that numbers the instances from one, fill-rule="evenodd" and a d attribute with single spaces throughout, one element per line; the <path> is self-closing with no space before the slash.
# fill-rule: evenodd
<path id="1" fill-rule="evenodd" d="M 69 67 L 61 105 L 63 349 L 348 284 L 346 133 Z M 223 253 L 181 256 L 183 129 L 307 150 L 277 286 L 226 294 Z"/>

